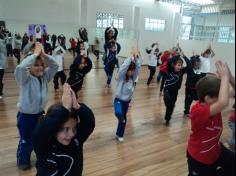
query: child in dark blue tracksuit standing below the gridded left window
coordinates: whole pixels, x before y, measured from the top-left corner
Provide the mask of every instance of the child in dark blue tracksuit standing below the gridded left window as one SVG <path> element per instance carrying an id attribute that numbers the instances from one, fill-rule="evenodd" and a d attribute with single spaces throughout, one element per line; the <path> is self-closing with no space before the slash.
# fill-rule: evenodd
<path id="1" fill-rule="evenodd" d="M 115 69 L 115 65 L 118 62 L 118 54 L 120 53 L 121 46 L 119 43 L 116 42 L 110 42 L 109 44 L 105 44 L 106 57 L 104 60 L 104 70 L 107 75 L 107 87 L 111 87 L 111 80 L 113 76 L 113 72 Z"/>

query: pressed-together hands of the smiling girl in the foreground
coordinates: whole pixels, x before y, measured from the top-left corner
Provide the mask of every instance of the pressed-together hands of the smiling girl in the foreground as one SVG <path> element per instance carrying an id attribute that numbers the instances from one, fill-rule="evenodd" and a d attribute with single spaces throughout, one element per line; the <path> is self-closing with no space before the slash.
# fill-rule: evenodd
<path id="1" fill-rule="evenodd" d="M 63 87 L 62 104 L 66 109 L 71 110 L 72 103 L 71 88 L 70 85 L 66 83 Z"/>

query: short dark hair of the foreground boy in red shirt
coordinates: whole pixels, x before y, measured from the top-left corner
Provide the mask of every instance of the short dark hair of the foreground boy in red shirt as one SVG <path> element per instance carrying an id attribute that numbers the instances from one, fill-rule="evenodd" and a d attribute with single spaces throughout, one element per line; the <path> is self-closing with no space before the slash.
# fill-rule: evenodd
<path id="1" fill-rule="evenodd" d="M 200 102 L 205 102 L 205 97 L 215 98 L 219 96 L 221 80 L 216 76 L 206 76 L 200 79 L 196 85 Z"/>

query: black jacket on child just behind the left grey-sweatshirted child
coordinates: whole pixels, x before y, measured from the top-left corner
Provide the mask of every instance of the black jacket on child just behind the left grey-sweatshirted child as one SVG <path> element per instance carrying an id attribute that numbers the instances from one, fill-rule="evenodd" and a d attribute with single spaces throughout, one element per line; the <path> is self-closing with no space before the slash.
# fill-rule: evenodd
<path id="1" fill-rule="evenodd" d="M 74 63 L 70 66 L 70 76 L 67 80 L 75 93 L 82 88 L 85 75 L 88 74 L 93 67 L 91 59 L 87 58 L 87 66 L 83 69 L 79 69 L 78 67 L 81 64 L 81 60 L 81 56 L 77 56 Z"/>

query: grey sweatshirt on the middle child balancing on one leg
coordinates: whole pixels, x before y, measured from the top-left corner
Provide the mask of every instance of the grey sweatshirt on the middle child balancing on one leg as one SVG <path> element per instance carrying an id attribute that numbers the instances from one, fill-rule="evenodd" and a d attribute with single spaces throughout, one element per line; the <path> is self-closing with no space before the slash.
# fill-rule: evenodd
<path id="1" fill-rule="evenodd" d="M 126 73 L 132 60 L 133 60 L 132 58 L 128 58 L 124 61 L 124 63 L 120 67 L 117 76 L 116 98 L 122 101 L 131 100 L 134 93 L 134 83 L 141 70 L 142 59 L 134 61 L 136 64 L 134 75 L 131 79 L 126 81 Z"/>

